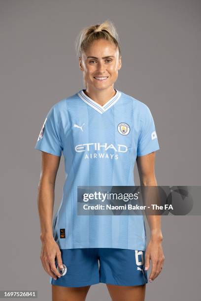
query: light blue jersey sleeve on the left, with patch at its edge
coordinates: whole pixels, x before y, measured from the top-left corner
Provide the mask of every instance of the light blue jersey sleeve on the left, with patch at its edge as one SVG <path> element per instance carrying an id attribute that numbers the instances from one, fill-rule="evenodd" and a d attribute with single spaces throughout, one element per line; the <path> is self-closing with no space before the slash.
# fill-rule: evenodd
<path id="1" fill-rule="evenodd" d="M 63 151 L 60 122 L 56 106 L 48 112 L 40 130 L 35 150 L 45 151 L 56 156 L 61 156 Z"/>

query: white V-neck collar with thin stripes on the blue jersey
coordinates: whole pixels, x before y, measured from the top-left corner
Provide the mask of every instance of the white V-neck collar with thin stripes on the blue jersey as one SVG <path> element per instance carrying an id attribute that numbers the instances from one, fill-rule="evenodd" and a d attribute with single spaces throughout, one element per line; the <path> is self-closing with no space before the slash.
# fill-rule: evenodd
<path id="1" fill-rule="evenodd" d="M 97 103 L 96 101 L 94 101 L 92 98 L 90 98 L 89 96 L 87 96 L 84 92 L 85 89 L 80 90 L 77 95 L 84 101 L 86 102 L 89 106 L 91 106 L 92 108 L 94 108 L 97 112 L 99 112 L 100 114 L 104 113 L 105 111 L 107 111 L 109 108 L 111 108 L 111 106 L 113 106 L 120 98 L 121 96 L 121 92 L 116 90 L 116 94 L 110 98 L 103 106 L 101 106 L 99 103 Z"/>

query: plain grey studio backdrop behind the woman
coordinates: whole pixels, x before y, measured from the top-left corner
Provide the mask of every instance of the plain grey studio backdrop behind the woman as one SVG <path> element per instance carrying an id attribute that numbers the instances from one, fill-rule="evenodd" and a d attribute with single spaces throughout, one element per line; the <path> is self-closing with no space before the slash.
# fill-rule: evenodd
<path id="1" fill-rule="evenodd" d="M 38 290 L 38 300 L 51 300 L 39 259 L 34 146 L 51 106 L 83 88 L 76 35 L 107 18 L 122 51 L 115 87 L 146 103 L 155 120 L 158 184 L 201 185 L 201 1 L 0 0 L 0 290 Z M 136 166 L 134 173 L 138 184 Z M 54 212 L 63 183 L 62 157 Z M 163 217 L 165 267 L 146 300 L 200 300 L 200 227 L 200 216 Z M 87 300 L 110 300 L 105 284 Z"/>

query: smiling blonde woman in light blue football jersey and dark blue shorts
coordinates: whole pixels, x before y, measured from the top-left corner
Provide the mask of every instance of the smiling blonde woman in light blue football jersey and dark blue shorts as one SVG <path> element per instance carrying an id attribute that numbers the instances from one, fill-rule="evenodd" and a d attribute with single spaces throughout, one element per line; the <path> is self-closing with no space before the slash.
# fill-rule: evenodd
<path id="1" fill-rule="evenodd" d="M 133 186 L 135 160 L 141 185 L 156 186 L 154 120 L 144 103 L 114 89 L 122 63 L 112 22 L 81 30 L 76 50 L 86 89 L 50 109 L 35 145 L 42 151 L 41 262 L 54 301 L 85 300 L 90 285 L 99 282 L 106 283 L 112 300 L 143 301 L 150 260 L 150 281 L 163 267 L 160 216 L 147 217 L 151 239 L 146 247 L 143 215 L 79 215 L 77 188 Z M 52 225 L 62 152 L 66 181 Z"/>

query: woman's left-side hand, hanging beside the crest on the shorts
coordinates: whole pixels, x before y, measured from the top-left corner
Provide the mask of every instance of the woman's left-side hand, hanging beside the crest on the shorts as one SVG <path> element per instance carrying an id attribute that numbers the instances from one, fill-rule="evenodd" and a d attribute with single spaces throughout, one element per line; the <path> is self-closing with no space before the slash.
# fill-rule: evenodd
<path id="1" fill-rule="evenodd" d="M 57 271 L 55 266 L 55 257 L 57 257 L 57 263 L 60 269 L 63 269 L 61 251 L 54 238 L 42 241 L 42 249 L 40 254 L 42 266 L 52 278 L 57 280 L 56 276 L 60 278 L 61 274 L 59 271 Z"/>

